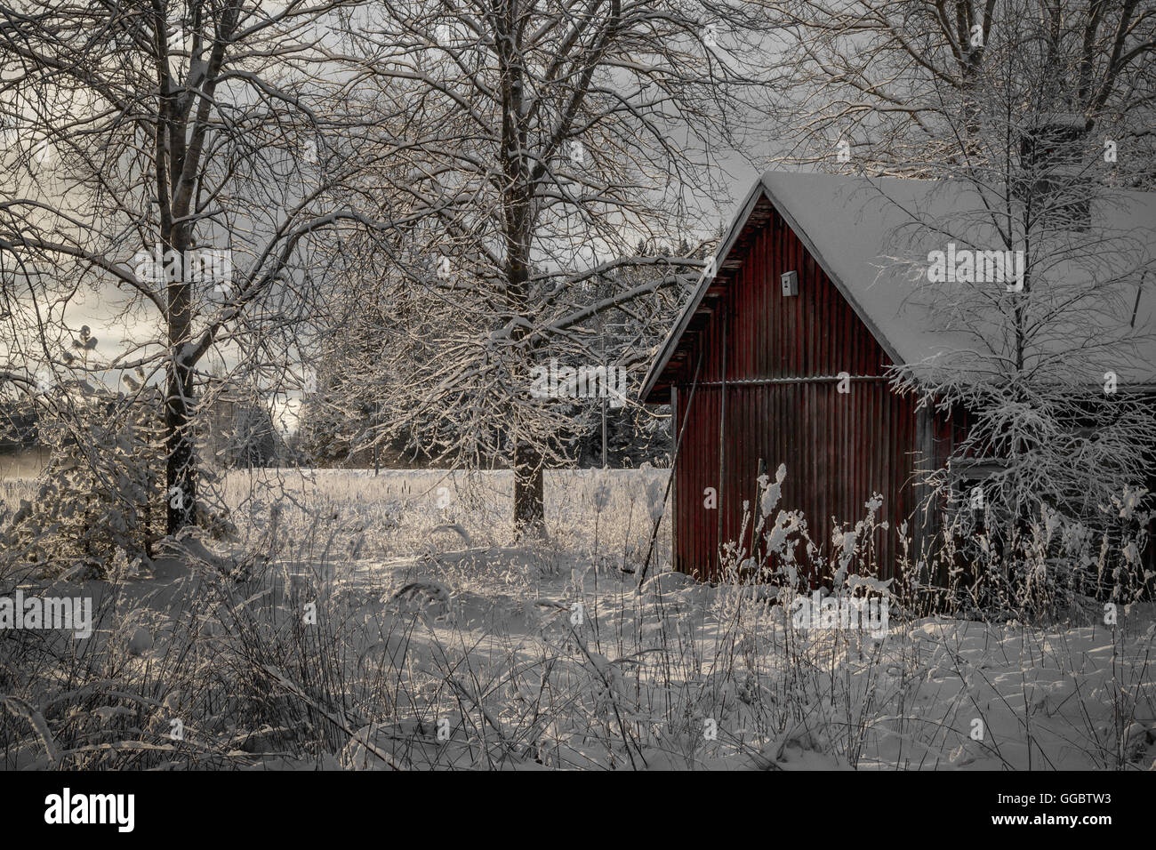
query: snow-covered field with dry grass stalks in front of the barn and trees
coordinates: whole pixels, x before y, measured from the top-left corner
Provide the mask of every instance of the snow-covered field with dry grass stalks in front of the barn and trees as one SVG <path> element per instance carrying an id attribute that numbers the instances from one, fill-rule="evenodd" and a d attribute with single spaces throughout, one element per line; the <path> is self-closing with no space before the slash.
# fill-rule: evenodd
<path id="1" fill-rule="evenodd" d="M 1150 605 L 799 629 L 758 587 L 666 571 L 666 534 L 638 586 L 665 471 L 546 482 L 550 537 L 525 547 L 509 473 L 230 474 L 234 539 L 24 582 L 97 622 L 5 633 L 0 766 L 1153 768 Z"/>

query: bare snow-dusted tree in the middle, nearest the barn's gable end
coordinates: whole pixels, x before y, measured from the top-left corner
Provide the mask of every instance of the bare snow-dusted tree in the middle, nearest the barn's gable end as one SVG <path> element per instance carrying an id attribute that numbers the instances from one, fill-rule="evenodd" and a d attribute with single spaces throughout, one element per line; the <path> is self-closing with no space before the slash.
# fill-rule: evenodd
<path id="1" fill-rule="evenodd" d="M 550 357 L 601 363 L 591 319 L 676 282 L 598 301 L 590 286 L 668 265 L 632 246 L 675 243 L 724 189 L 710 167 L 747 130 L 764 19 L 690 0 L 405 0 L 351 32 L 372 80 L 408 90 L 420 127 L 383 190 L 406 250 L 424 258 L 408 275 L 423 295 L 408 297 L 428 317 L 406 330 L 416 369 L 393 402 L 442 424 L 425 429 L 442 452 L 481 443 L 507 457 L 514 526 L 540 533 L 542 468 L 566 414 L 531 392 L 531 374 Z M 438 328 L 445 343 L 420 355 Z"/>

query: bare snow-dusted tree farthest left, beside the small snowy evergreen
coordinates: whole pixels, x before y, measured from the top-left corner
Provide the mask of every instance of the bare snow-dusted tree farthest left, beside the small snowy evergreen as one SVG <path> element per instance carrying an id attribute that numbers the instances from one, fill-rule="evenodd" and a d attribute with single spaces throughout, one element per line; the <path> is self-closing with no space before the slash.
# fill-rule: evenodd
<path id="1" fill-rule="evenodd" d="M 80 368 L 61 346 L 86 295 L 132 328 L 82 368 L 163 382 L 170 533 L 195 519 L 199 364 L 292 372 L 318 234 L 366 223 L 334 35 L 356 5 L 0 6 L 8 371 L 32 389 Z"/>

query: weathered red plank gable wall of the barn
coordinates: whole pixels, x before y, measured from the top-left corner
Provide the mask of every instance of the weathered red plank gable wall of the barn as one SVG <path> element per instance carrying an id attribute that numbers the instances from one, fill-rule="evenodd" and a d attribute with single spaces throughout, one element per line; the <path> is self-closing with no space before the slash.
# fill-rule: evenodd
<path id="1" fill-rule="evenodd" d="M 899 554 L 896 526 L 914 508 L 910 485 L 919 435 L 913 402 L 890 392 L 883 379 L 887 354 L 777 214 L 734 251 L 743 259 L 736 280 L 694 338 L 675 382 L 679 426 L 690 401 L 675 471 L 676 568 L 717 577 L 720 513 L 722 540 L 738 540 L 743 502 L 756 505 L 764 461 L 772 476 L 786 465 L 779 508 L 805 512 L 824 555 L 831 548 L 831 518 L 854 523 L 870 494 L 882 494 L 880 518 L 891 531 L 879 532 L 875 542 L 889 577 Z M 792 269 L 799 273 L 799 295 L 784 297 L 779 274 Z M 853 380 L 850 393 L 839 393 L 835 379 L 741 383 L 842 371 L 868 379 Z M 720 513 L 704 507 L 707 487 L 718 488 Z M 749 527 L 744 537 L 749 549 Z"/>

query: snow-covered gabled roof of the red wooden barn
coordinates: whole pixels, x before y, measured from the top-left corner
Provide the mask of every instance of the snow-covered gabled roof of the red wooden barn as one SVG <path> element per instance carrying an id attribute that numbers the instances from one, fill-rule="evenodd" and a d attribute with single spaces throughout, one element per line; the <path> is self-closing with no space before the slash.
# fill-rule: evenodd
<path id="1" fill-rule="evenodd" d="M 643 383 L 642 398 L 665 400 L 649 397 L 655 385 L 669 383 L 669 378 L 661 380 L 664 372 L 707 290 L 713 287 L 717 291 L 720 279 L 727 275 L 731 281 L 726 284 L 733 283 L 742 251 L 735 251 L 735 257 L 731 253 L 744 229 L 765 221 L 753 213 L 768 204 L 798 235 L 895 363 L 935 363 L 975 352 L 976 333 L 998 337 L 999 326 L 983 327 L 972 317 L 969 333 L 958 316 L 953 318 L 942 302 L 936 303 L 942 291 L 928 284 L 926 268 L 928 251 L 946 250 L 949 242 L 971 250 L 1003 246 L 995 228 L 998 216 L 985 206 L 991 202 L 992 198 L 964 183 L 766 172 L 747 195 L 716 254 L 717 278 L 704 275 L 659 349 Z M 1121 281 L 1114 301 L 1109 300 L 1112 304 L 1097 304 L 1081 315 L 1080 321 L 1085 330 L 1105 332 L 1120 325 L 1132 338 L 1138 335 L 1135 331 L 1148 331 L 1147 339 L 1129 341 L 1111 362 L 1121 385 L 1156 384 L 1156 194 L 1113 192 L 1111 201 L 1092 204 L 1091 227 L 1073 232 L 1064 251 L 1054 251 L 1054 245 L 1051 254 L 1037 256 L 1030 245 L 1028 251 L 1030 268 L 1061 279 L 1067 287 L 1088 275 L 1103 275 L 1105 268 Z M 1146 291 L 1134 303 L 1141 283 Z M 1050 354 L 1065 353 L 1070 330 L 1058 326 L 1053 337 L 1040 335 L 1042 348 Z M 1101 379 L 1096 368 L 1089 365 L 1089 380 Z"/>

